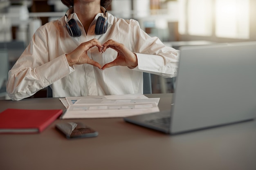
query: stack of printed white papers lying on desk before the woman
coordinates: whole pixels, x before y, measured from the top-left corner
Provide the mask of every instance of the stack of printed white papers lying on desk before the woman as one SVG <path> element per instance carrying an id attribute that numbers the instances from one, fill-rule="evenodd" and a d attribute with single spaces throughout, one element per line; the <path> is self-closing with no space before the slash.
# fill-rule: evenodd
<path id="1" fill-rule="evenodd" d="M 127 117 L 159 111 L 159 98 L 140 94 L 65 97 L 60 100 L 67 108 L 62 119 Z"/>

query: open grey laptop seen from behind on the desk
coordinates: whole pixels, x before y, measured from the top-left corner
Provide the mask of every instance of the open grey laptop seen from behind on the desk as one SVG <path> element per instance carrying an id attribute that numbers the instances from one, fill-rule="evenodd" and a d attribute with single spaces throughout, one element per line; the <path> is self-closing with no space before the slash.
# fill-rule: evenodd
<path id="1" fill-rule="evenodd" d="M 255 74 L 256 42 L 182 46 L 171 110 L 124 121 L 179 134 L 253 120 Z"/>

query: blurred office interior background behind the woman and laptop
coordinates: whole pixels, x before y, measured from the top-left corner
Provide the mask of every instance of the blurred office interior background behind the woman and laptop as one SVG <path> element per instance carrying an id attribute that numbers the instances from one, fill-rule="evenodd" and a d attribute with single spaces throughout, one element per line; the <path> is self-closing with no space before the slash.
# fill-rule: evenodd
<path id="1" fill-rule="evenodd" d="M 150 36 L 183 45 L 256 41 L 256 0 L 112 0 L 108 12 L 138 20 Z M 39 26 L 65 15 L 61 0 L 0 0 L 0 97 L 7 72 Z M 5 64 L 6 65 L 6 64 Z M 6 71 L 6 73 L 4 73 Z M 3 79 L 3 78 L 2 78 Z M 173 93 L 175 79 L 151 75 L 152 93 Z M 44 91 L 34 97 L 44 97 Z"/>

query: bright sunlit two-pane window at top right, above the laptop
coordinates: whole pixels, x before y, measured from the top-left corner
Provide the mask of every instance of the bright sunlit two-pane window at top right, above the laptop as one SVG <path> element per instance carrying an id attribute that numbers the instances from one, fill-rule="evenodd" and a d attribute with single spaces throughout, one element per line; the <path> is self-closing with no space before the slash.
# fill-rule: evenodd
<path id="1" fill-rule="evenodd" d="M 179 0 L 179 33 L 249 39 L 249 0 Z"/>

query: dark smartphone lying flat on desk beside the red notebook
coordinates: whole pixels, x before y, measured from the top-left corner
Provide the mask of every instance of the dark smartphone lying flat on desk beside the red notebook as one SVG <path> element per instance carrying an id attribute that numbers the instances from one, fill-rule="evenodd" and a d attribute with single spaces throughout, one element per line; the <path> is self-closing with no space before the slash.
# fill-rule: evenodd
<path id="1" fill-rule="evenodd" d="M 97 137 L 98 132 L 88 127 L 82 122 L 63 122 L 56 124 L 56 128 L 60 130 L 67 139 Z"/>

